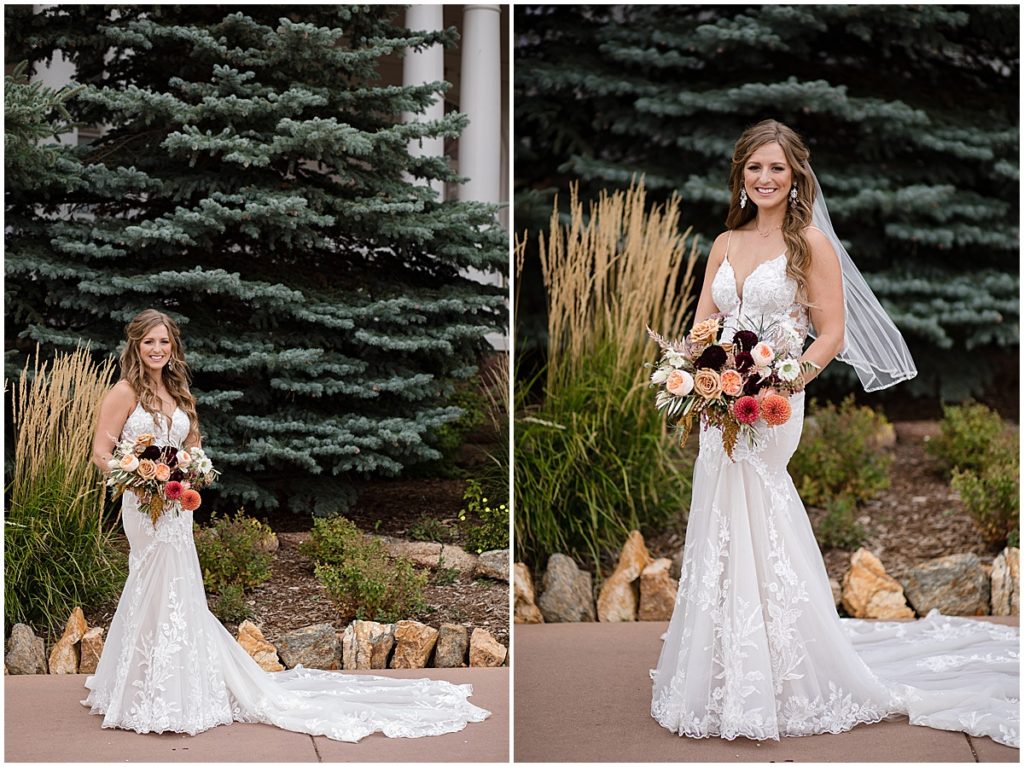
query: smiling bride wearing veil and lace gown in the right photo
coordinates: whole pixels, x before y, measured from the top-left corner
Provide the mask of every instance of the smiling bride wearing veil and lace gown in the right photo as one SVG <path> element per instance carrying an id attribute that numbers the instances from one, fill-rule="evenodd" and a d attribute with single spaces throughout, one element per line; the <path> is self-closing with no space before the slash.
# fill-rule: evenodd
<path id="1" fill-rule="evenodd" d="M 867 391 L 916 374 L 899 331 L 831 228 L 809 153 L 767 120 L 736 142 L 727 231 L 708 259 L 695 323 L 725 314 L 778 321 L 813 364 L 852 365 Z M 1019 748 L 1019 630 L 933 611 L 912 623 L 841 621 L 786 464 L 793 415 L 740 440 L 732 460 L 700 430 L 679 592 L 657 668 L 651 715 L 690 737 L 755 739 L 843 732 L 906 715 Z"/>

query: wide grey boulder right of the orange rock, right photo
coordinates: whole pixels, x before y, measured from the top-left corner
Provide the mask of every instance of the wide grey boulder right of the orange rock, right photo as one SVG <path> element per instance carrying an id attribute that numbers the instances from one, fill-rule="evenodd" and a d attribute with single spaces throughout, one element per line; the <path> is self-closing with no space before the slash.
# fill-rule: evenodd
<path id="1" fill-rule="evenodd" d="M 938 609 L 945 615 L 987 615 L 988 576 L 977 554 L 950 554 L 907 570 L 907 601 L 919 615 Z"/>

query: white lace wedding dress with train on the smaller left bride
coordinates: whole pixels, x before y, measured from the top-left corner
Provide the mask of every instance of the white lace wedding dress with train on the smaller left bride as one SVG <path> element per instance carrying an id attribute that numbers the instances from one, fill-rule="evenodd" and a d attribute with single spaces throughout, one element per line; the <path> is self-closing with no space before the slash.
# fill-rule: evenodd
<path id="1" fill-rule="evenodd" d="M 144 432 L 157 434 L 158 444 L 180 444 L 188 418 L 176 410 L 170 428 L 160 429 L 137 407 L 122 437 Z M 128 581 L 82 701 L 103 716 L 103 727 L 195 735 L 218 724 L 263 722 L 356 741 L 373 732 L 439 735 L 489 716 L 467 700 L 468 684 L 301 666 L 264 672 L 207 608 L 191 512 L 165 514 L 154 526 L 133 495 L 124 498 Z"/>

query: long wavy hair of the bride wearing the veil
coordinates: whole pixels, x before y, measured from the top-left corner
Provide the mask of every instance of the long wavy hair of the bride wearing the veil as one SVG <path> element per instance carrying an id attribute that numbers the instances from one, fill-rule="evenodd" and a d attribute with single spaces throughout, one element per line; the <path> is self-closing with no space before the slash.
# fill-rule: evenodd
<path id="1" fill-rule="evenodd" d="M 793 128 L 777 120 L 764 120 L 748 128 L 739 136 L 732 151 L 732 169 L 729 172 L 729 214 L 725 218 L 725 225 L 727 228 L 735 229 L 757 216 L 758 206 L 753 200 L 746 201 L 745 208 L 739 207 L 739 191 L 743 188 L 743 166 L 759 147 L 772 142 L 782 147 L 786 162 L 793 170 L 793 182 L 797 184 L 797 202 L 786 197 L 782 239 L 785 241 L 785 271 L 797 283 L 798 300 L 807 303 L 807 271 L 811 265 L 811 248 L 804 238 L 804 229 L 811 223 L 814 181 L 808 165 L 811 153 Z M 788 194 L 788 189 L 786 193 Z"/>

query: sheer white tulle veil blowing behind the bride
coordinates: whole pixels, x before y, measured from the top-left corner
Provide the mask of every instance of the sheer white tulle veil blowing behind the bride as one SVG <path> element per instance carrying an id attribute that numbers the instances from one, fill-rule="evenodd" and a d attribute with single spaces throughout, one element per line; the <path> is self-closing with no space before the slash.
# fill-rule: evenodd
<path id="1" fill-rule="evenodd" d="M 903 336 L 836 236 L 821 184 L 810 166 L 808 171 L 814 181 L 812 224 L 828 239 L 843 267 L 846 338 L 843 350 L 836 358 L 853 366 L 865 391 L 885 389 L 913 378 L 918 375 L 918 368 Z M 815 335 L 813 328 L 810 334 Z"/>

